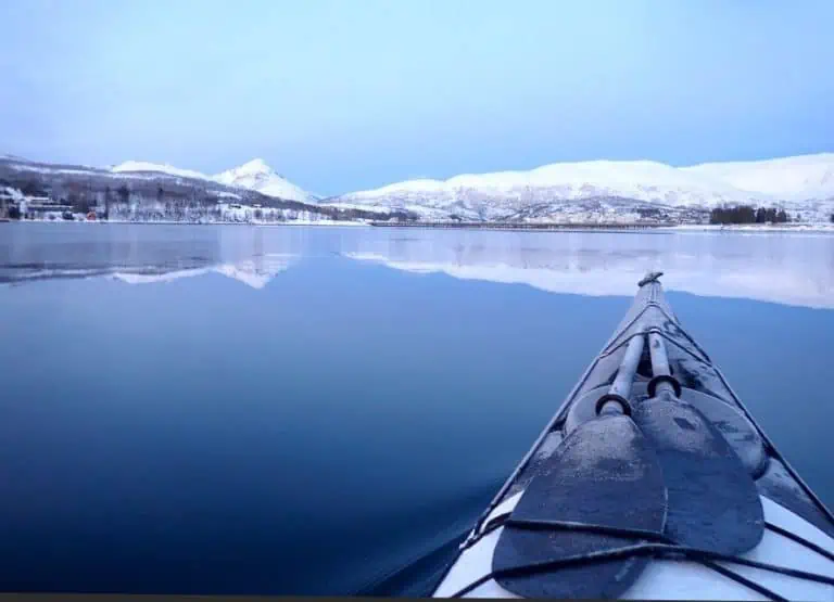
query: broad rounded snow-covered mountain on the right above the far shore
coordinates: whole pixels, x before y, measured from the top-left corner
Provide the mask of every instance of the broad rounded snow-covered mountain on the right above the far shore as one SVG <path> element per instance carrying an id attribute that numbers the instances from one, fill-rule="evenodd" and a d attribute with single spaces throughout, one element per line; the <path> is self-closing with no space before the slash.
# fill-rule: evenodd
<path id="1" fill-rule="evenodd" d="M 620 214 L 632 210 L 629 202 L 679 209 L 749 203 L 823 214 L 834 204 L 834 154 L 692 167 L 650 161 L 556 163 L 529 171 L 409 180 L 329 202 L 402 208 L 428 218 L 514 219 L 531 212 L 553 217 L 587 201 L 599 212 Z"/>

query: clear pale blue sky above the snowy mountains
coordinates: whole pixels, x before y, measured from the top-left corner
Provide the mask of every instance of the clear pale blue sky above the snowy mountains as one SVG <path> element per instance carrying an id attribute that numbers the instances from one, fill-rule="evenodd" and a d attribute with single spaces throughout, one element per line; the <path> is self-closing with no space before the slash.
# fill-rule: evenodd
<path id="1" fill-rule="evenodd" d="M 0 0 L 0 153 L 319 194 L 834 151 L 831 0 Z"/>

